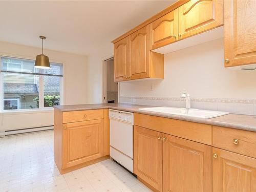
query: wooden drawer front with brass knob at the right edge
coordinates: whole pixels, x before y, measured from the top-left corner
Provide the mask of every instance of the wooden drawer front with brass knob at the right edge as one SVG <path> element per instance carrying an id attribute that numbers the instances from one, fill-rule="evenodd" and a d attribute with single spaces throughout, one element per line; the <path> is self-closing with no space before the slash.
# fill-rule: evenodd
<path id="1" fill-rule="evenodd" d="M 256 158 L 256 132 L 212 126 L 212 145 Z"/>

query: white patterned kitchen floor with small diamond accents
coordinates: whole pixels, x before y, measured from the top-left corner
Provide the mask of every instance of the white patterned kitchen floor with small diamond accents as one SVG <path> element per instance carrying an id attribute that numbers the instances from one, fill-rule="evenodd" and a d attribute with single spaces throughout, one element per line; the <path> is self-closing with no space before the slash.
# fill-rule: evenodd
<path id="1" fill-rule="evenodd" d="M 0 191 L 151 191 L 113 160 L 60 175 L 53 131 L 0 138 Z"/>

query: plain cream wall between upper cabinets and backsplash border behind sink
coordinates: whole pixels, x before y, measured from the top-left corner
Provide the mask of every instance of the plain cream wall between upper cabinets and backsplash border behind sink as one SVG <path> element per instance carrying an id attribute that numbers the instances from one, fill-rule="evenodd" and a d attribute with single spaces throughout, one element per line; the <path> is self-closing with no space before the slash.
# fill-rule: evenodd
<path id="1" fill-rule="evenodd" d="M 227 69 L 223 61 L 223 38 L 166 54 L 164 79 L 121 82 L 120 96 L 137 97 L 133 103 L 151 104 L 140 103 L 138 98 L 180 98 L 185 89 L 192 98 L 256 99 L 256 71 Z M 151 84 L 154 91 L 150 91 Z M 217 109 L 211 102 L 210 109 Z M 253 108 L 253 104 L 249 107 Z"/>

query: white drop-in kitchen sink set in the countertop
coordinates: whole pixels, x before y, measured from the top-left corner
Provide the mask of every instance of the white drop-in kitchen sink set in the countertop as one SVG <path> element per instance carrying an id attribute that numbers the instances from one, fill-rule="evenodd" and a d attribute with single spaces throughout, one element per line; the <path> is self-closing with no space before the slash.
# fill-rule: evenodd
<path id="1" fill-rule="evenodd" d="M 186 109 L 186 108 L 171 108 L 168 106 L 159 106 L 156 108 L 140 108 L 139 110 L 173 114 L 173 115 L 182 115 L 182 116 L 189 116 L 189 117 L 199 117 L 199 118 L 205 118 L 205 119 L 229 114 L 229 112 Z"/>

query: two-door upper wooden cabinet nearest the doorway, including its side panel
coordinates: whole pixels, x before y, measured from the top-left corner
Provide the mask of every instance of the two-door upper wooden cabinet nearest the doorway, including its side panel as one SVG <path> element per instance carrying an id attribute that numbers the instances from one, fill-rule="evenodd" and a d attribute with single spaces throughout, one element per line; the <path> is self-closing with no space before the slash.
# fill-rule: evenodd
<path id="1" fill-rule="evenodd" d="M 115 81 L 163 78 L 163 65 L 164 56 L 150 52 L 149 26 L 141 28 L 114 45 Z"/>

